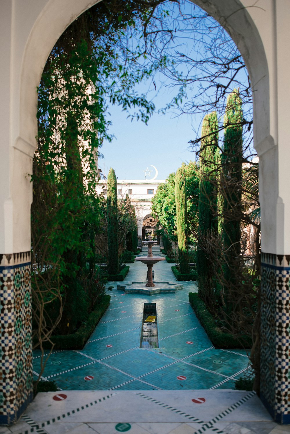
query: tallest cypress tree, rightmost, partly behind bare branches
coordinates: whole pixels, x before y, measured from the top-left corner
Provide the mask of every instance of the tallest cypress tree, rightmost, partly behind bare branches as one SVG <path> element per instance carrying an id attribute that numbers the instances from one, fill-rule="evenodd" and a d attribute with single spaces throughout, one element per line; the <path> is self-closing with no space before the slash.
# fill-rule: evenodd
<path id="1" fill-rule="evenodd" d="M 234 314 L 241 293 L 241 184 L 242 184 L 242 100 L 237 89 L 228 98 L 224 115 L 223 243 L 224 301 L 227 316 Z"/>

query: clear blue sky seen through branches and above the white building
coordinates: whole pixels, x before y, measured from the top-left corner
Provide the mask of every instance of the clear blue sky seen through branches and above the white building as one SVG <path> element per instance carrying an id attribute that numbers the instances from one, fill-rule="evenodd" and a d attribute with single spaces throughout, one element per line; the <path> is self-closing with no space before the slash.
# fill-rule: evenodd
<path id="1" fill-rule="evenodd" d="M 180 15 L 176 10 L 176 5 L 172 2 L 168 3 L 170 10 L 170 19 L 172 28 L 175 26 L 175 39 L 170 49 L 173 52 L 182 52 L 187 56 L 196 59 L 202 59 L 203 56 L 208 56 L 206 52 L 207 47 L 215 39 L 214 44 L 221 43 L 220 37 L 223 40 L 228 39 L 228 35 L 224 32 L 224 35 L 217 30 L 220 28 L 216 21 L 211 17 L 206 18 L 201 25 L 196 24 L 196 21 L 184 19 L 184 17 L 190 16 L 191 13 L 194 16 L 201 16 L 204 12 L 193 5 L 191 2 L 183 3 L 183 13 Z M 174 9 L 175 8 L 175 9 Z M 170 20 L 169 20 L 170 23 Z M 185 24 L 186 23 L 186 24 Z M 170 24 L 171 25 L 171 24 Z M 193 27 L 195 26 L 195 33 Z M 204 26 L 208 32 L 204 32 Z M 215 36 L 216 35 L 216 36 Z M 198 41 L 198 43 L 196 43 Z M 229 53 L 232 53 L 233 47 L 226 45 L 223 42 L 223 50 L 226 53 L 229 49 Z M 188 73 L 187 66 L 183 61 L 179 64 L 179 71 L 183 74 Z M 208 71 L 211 72 L 211 66 Z M 192 68 L 191 74 L 198 74 L 200 71 L 196 71 Z M 242 75 L 241 75 L 242 74 Z M 247 82 L 247 75 L 243 71 L 237 78 L 240 81 Z M 244 75 L 243 75 L 244 74 Z M 158 170 L 157 179 L 165 179 L 168 174 L 175 172 L 182 162 L 188 162 L 195 160 L 195 153 L 191 150 L 188 141 L 194 140 L 201 135 L 201 122 L 206 113 L 200 115 L 178 115 L 178 112 L 166 112 L 161 114 L 159 109 L 168 104 L 171 99 L 178 92 L 178 86 L 171 86 L 171 82 L 168 78 L 158 73 L 155 76 L 155 86 L 152 81 L 143 82 L 138 85 L 138 94 L 146 93 L 147 98 L 152 100 L 156 106 L 156 112 L 148 121 L 148 125 L 145 125 L 141 120 L 135 119 L 131 122 L 127 112 L 123 112 L 122 108 L 117 105 L 110 105 L 108 112 L 108 119 L 112 122 L 109 128 L 109 133 L 114 135 L 111 143 L 104 142 L 100 152 L 104 158 L 99 158 L 99 168 L 102 169 L 103 174 L 107 175 L 109 168 L 112 167 L 115 170 L 116 176 L 119 180 L 124 179 L 144 179 L 144 172 L 147 167 L 153 169 L 150 165 L 153 165 Z M 233 83 L 234 87 L 234 83 Z M 194 84 L 192 89 L 188 89 L 188 99 L 190 101 L 193 95 L 198 94 L 198 85 Z M 196 97 L 195 97 L 196 98 Z M 207 98 L 204 95 L 202 98 Z M 208 97 L 210 98 L 210 96 Z M 222 114 L 220 113 L 220 120 L 222 121 Z M 220 134 L 222 136 L 222 134 Z M 152 172 L 154 176 L 155 172 Z"/>

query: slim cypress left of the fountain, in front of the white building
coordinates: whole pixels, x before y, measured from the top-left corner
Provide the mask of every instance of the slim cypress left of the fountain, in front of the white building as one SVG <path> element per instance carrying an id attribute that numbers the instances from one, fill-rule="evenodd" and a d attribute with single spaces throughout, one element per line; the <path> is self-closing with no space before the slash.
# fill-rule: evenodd
<path id="1" fill-rule="evenodd" d="M 107 191 L 107 215 L 108 215 L 108 273 L 119 273 L 118 255 L 118 200 L 117 178 L 114 169 L 110 168 L 108 174 Z"/>

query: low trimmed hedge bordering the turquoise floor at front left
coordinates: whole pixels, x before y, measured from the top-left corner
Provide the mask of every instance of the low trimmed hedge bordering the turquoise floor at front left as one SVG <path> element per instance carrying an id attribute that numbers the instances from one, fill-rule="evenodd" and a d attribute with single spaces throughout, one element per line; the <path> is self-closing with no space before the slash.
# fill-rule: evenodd
<path id="1" fill-rule="evenodd" d="M 82 349 L 90 335 L 94 331 L 99 320 L 107 310 L 110 304 L 111 296 L 104 294 L 100 297 L 98 306 L 90 314 L 86 322 L 80 328 L 70 335 L 56 335 L 52 336 L 51 340 L 55 344 L 54 350 L 77 350 Z M 43 342 L 44 348 L 50 348 L 49 342 Z"/>

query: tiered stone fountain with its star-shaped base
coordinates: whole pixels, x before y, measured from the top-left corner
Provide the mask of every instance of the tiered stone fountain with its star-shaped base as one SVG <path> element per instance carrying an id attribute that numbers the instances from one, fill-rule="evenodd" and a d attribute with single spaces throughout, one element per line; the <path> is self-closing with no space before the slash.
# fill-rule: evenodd
<path id="1" fill-rule="evenodd" d="M 138 256 L 135 258 L 135 261 L 139 261 L 147 265 L 147 282 L 128 282 L 117 284 L 117 289 L 125 291 L 125 294 L 141 293 L 150 296 L 158 293 L 175 293 L 176 290 L 183 289 L 183 285 L 176 284 L 175 282 L 153 282 L 153 265 L 159 261 L 164 261 L 165 257 L 153 256 L 152 246 L 157 244 L 157 242 L 152 241 L 150 236 L 148 241 L 143 241 L 143 244 L 148 246 L 148 256 Z"/>

